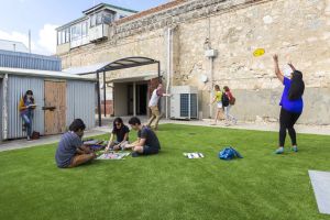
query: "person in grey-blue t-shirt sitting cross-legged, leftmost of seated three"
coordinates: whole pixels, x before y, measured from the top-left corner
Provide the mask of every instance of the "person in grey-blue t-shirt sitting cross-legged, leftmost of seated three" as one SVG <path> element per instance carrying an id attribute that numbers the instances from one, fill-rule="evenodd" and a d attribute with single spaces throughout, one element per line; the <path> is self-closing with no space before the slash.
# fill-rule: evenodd
<path id="1" fill-rule="evenodd" d="M 81 119 L 75 119 L 69 131 L 62 135 L 55 154 L 59 168 L 72 168 L 96 158 L 95 152 L 82 144 L 86 125 Z"/>

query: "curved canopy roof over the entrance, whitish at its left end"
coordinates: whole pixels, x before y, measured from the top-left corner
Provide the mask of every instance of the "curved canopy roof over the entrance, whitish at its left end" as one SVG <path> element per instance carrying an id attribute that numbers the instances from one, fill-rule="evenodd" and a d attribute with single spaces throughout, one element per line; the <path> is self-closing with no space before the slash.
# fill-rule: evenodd
<path id="1" fill-rule="evenodd" d="M 91 66 L 81 66 L 81 67 L 73 67 L 64 69 L 64 72 L 76 74 L 76 75 L 88 75 L 95 74 L 97 72 L 111 72 L 124 68 L 132 68 L 138 66 L 144 66 L 150 64 L 158 64 L 160 62 L 156 59 L 143 57 L 143 56 L 132 56 L 120 58 L 111 63 L 99 63 Z"/>

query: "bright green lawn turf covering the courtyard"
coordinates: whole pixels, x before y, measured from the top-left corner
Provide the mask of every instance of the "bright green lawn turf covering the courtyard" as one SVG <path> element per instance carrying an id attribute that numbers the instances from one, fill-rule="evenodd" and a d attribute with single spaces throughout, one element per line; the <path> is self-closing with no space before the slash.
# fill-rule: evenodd
<path id="1" fill-rule="evenodd" d="M 0 153 L 0 219 L 330 219 L 308 177 L 330 170 L 330 136 L 298 134 L 299 153 L 275 155 L 276 132 L 166 124 L 157 134 L 158 155 L 72 169 L 56 167 L 56 144 Z M 244 158 L 220 161 L 227 145 Z"/>

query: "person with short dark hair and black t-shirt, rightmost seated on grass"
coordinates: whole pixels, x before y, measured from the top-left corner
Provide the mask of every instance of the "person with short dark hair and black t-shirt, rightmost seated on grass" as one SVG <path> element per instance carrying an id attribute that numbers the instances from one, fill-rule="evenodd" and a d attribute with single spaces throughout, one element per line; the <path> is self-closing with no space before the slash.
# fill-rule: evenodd
<path id="1" fill-rule="evenodd" d="M 130 119 L 129 124 L 133 130 L 138 131 L 138 141 L 129 144 L 132 147 L 132 156 L 157 154 L 161 150 L 161 144 L 155 132 L 150 128 L 142 125 L 139 118 Z"/>

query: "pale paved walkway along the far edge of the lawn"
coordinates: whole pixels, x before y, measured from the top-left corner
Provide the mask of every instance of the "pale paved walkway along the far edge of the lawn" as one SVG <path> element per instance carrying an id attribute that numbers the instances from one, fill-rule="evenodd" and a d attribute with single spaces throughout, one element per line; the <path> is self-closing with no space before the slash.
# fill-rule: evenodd
<path id="1" fill-rule="evenodd" d="M 123 117 L 123 121 L 128 121 L 129 117 Z M 145 117 L 141 117 L 142 122 L 146 122 Z M 84 138 L 100 135 L 110 132 L 110 125 L 112 124 L 113 118 L 103 119 L 102 127 L 97 127 L 90 131 L 86 131 Z M 219 123 L 219 125 L 210 125 L 213 120 L 201 120 L 201 121 L 180 121 L 180 120 L 161 120 L 161 124 L 174 123 L 174 124 L 188 124 L 188 125 L 198 125 L 198 127 L 212 127 L 212 128 L 228 128 L 228 129 L 241 129 L 241 130 L 255 130 L 255 131 L 278 131 L 278 123 L 243 123 L 239 122 L 237 125 L 224 127 L 223 123 Z M 112 127 L 112 125 L 111 125 Z M 297 133 L 308 133 L 308 134 L 322 134 L 330 135 L 330 125 L 304 125 L 297 124 L 296 127 Z M 40 140 L 28 142 L 26 140 L 14 140 L 14 141 L 6 141 L 0 143 L 0 152 L 10 151 L 16 148 L 25 148 L 31 146 L 38 146 L 45 144 L 52 144 L 58 142 L 61 135 L 51 135 L 43 136 Z"/>

